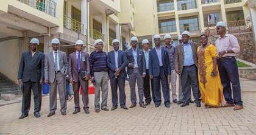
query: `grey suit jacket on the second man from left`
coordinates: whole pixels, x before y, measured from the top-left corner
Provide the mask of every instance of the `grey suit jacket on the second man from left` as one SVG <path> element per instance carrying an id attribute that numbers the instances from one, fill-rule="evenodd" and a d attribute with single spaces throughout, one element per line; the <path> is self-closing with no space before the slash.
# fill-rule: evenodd
<path id="1" fill-rule="evenodd" d="M 63 79 L 68 74 L 68 60 L 66 58 L 66 53 L 58 50 L 59 53 L 59 65 L 60 72 L 63 74 Z M 44 58 L 44 80 L 49 80 L 53 83 L 55 80 L 55 67 L 54 67 L 54 56 L 53 52 L 49 52 Z"/>

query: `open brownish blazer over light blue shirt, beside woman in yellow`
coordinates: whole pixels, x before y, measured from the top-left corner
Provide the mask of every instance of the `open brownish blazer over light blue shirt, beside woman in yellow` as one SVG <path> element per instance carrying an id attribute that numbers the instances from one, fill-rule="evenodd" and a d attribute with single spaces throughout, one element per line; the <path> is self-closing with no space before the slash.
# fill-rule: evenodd
<path id="1" fill-rule="evenodd" d="M 196 64 L 197 67 L 197 44 L 191 42 L 191 48 L 193 51 L 193 58 L 194 58 L 194 63 Z M 175 48 L 175 52 L 174 52 L 174 66 L 175 66 L 175 70 L 176 71 L 180 71 L 180 74 L 182 73 L 182 69 L 183 69 L 183 61 L 184 61 L 184 50 L 183 50 L 183 44 L 179 44 L 176 48 Z"/>

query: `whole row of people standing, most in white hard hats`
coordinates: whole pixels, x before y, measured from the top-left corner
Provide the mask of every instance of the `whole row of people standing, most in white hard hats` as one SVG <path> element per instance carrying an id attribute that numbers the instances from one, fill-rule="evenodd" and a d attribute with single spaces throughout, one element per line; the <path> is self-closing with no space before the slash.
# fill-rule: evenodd
<path id="1" fill-rule="evenodd" d="M 218 22 L 216 32 L 219 38 L 215 45 L 208 43 L 208 37 L 202 34 L 201 45 L 190 41 L 190 32 L 184 31 L 178 36 L 179 45 L 171 43 L 171 36 L 164 36 L 165 44 L 161 46 L 160 35 L 154 35 L 153 49 L 149 49 L 149 41 L 142 41 L 143 49 L 138 48 L 138 38 L 130 39 L 131 48 L 124 52 L 119 50 L 118 40 L 112 41 L 113 50 L 103 51 L 103 41 L 94 41 L 96 50 L 90 56 L 83 51 L 84 43 L 77 40 L 76 51 L 67 58 L 66 53 L 59 50 L 60 41 L 54 38 L 51 42 L 52 51 L 44 55 L 37 50 L 38 39 L 30 40 L 30 50 L 21 57 L 18 81 L 22 84 L 23 103 L 20 119 L 28 116 L 30 109 L 31 89 L 34 93 L 34 116 L 40 117 L 41 83 L 49 84 L 49 114 L 51 117 L 57 109 L 57 89 L 59 91 L 60 112 L 66 115 L 66 81 L 73 85 L 75 108 L 73 114 L 80 112 L 79 88 L 82 88 L 83 109 L 89 111 L 88 81 L 95 88 L 94 110 L 109 111 L 107 107 L 108 80 L 112 92 L 112 108 L 123 109 L 126 106 L 125 82 L 129 77 L 130 102 L 129 108 L 137 106 L 135 86 L 138 87 L 138 104 L 146 108 L 153 101 L 158 108 L 164 99 L 166 108 L 170 107 L 170 91 L 172 102 L 180 107 L 195 102 L 201 107 L 218 108 L 219 106 L 235 106 L 242 109 L 241 88 L 236 66 L 235 55 L 240 46 L 235 36 L 226 33 L 226 23 Z M 69 59 L 69 60 L 68 60 Z M 176 80 L 179 80 L 179 92 L 176 94 Z M 231 88 L 232 87 L 232 88 Z M 162 94 L 161 94 L 162 89 Z M 194 101 L 191 99 L 191 90 Z M 233 96 L 232 96 L 233 93 Z M 226 103 L 224 103 L 224 99 Z M 102 98 L 101 104 L 100 97 Z M 144 100 L 145 99 L 145 102 Z"/>

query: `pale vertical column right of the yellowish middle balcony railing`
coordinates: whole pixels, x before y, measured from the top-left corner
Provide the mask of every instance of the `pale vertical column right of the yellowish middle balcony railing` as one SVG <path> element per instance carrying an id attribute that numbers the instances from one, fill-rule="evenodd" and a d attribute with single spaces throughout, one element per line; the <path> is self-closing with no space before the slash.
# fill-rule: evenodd
<path id="1" fill-rule="evenodd" d="M 87 26 L 88 26 L 88 10 L 87 10 L 87 0 L 82 0 L 81 1 L 81 23 L 84 24 L 84 30 L 83 33 L 84 35 L 87 34 Z"/>

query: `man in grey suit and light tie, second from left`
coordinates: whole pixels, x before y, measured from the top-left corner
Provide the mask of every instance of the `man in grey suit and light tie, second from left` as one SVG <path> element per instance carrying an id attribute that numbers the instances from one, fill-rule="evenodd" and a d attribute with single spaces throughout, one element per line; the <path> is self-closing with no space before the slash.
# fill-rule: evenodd
<path id="1" fill-rule="evenodd" d="M 50 112 L 48 117 L 55 114 L 57 109 L 57 86 L 60 97 L 60 112 L 66 115 L 66 80 L 68 60 L 66 53 L 59 50 L 60 41 L 52 39 L 52 51 L 44 58 L 44 83 L 49 83 Z"/>

